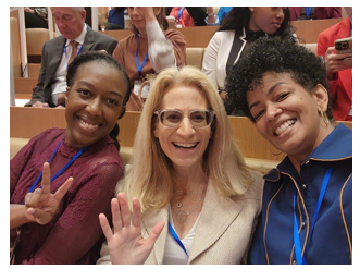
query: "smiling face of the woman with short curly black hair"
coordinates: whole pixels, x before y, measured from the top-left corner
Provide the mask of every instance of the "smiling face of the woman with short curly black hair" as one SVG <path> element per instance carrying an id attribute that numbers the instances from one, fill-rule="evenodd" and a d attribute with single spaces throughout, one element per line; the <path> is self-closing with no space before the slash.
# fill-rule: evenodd
<path id="1" fill-rule="evenodd" d="M 265 73 L 263 84 L 247 91 L 258 132 L 274 147 L 305 159 L 331 132 L 318 109 L 326 111 L 326 89 L 318 85 L 310 94 L 288 74 Z"/>

